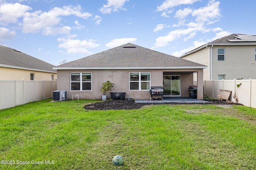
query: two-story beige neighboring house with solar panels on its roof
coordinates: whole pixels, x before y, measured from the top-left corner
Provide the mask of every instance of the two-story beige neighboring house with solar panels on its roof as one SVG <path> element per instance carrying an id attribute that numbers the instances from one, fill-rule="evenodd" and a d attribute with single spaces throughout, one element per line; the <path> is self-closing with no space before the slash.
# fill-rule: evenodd
<path id="1" fill-rule="evenodd" d="M 204 64 L 204 80 L 256 79 L 256 35 L 222 37 L 180 58 Z"/>

